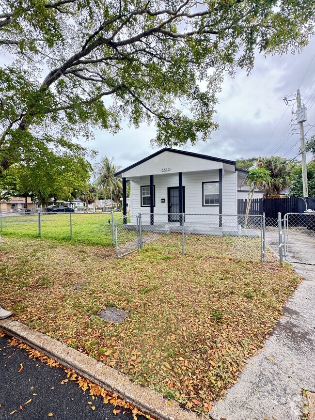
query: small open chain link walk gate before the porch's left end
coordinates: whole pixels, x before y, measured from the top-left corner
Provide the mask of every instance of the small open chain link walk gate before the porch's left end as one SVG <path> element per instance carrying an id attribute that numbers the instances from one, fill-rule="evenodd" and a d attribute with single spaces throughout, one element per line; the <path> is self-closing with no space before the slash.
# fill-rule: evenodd
<path id="1" fill-rule="evenodd" d="M 123 216 L 115 220 L 115 246 L 117 257 L 123 257 L 139 248 L 138 216 Z"/>

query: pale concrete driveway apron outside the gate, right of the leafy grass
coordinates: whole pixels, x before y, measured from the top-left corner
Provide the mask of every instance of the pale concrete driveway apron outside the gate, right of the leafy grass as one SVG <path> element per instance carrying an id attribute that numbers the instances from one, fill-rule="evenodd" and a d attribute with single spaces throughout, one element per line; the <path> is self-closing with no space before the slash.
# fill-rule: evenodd
<path id="1" fill-rule="evenodd" d="M 302 389 L 315 391 L 315 266 L 292 265 L 305 280 L 288 299 L 264 351 L 248 360 L 238 383 L 215 404 L 213 419 L 300 419 Z"/>

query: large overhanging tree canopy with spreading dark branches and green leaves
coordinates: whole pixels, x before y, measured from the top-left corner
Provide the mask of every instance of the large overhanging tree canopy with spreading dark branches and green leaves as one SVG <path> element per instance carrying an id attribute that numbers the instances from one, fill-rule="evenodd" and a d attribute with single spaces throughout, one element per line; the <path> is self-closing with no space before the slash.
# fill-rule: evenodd
<path id="1" fill-rule="evenodd" d="M 207 140 L 224 72 L 254 53 L 304 47 L 309 0 L 0 0 L 0 171 L 63 150 L 121 121 L 155 124 L 158 145 Z M 205 83 L 201 84 L 200 81 Z M 203 86 L 201 88 L 201 86 Z M 108 99 L 105 99 L 108 98 Z"/>

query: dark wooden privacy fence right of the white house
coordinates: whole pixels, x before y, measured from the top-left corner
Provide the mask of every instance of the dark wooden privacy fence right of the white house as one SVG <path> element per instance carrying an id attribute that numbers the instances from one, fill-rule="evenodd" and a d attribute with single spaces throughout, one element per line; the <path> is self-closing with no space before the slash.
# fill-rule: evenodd
<path id="1" fill-rule="evenodd" d="M 315 210 L 315 197 L 305 199 L 307 208 Z M 237 214 L 244 215 L 247 207 L 247 199 L 237 200 Z M 282 218 L 286 213 L 303 213 L 306 210 L 305 202 L 299 197 L 287 198 L 256 198 L 252 200 L 251 215 L 262 215 L 265 212 L 266 218 L 276 219 L 278 213 Z"/>

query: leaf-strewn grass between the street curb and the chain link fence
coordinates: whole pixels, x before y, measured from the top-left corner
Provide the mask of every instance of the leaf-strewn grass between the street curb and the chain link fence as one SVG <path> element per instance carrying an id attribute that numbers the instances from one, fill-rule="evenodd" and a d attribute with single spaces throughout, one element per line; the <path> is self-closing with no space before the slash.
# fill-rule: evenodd
<path id="1" fill-rule="evenodd" d="M 207 412 L 264 344 L 299 283 L 271 254 L 268 264 L 244 262 L 220 252 L 224 238 L 210 242 L 209 249 L 191 236 L 181 255 L 174 235 L 116 259 L 112 248 L 5 236 L 1 305 L 137 383 Z M 130 316 L 108 324 L 96 316 L 106 306 Z"/>

